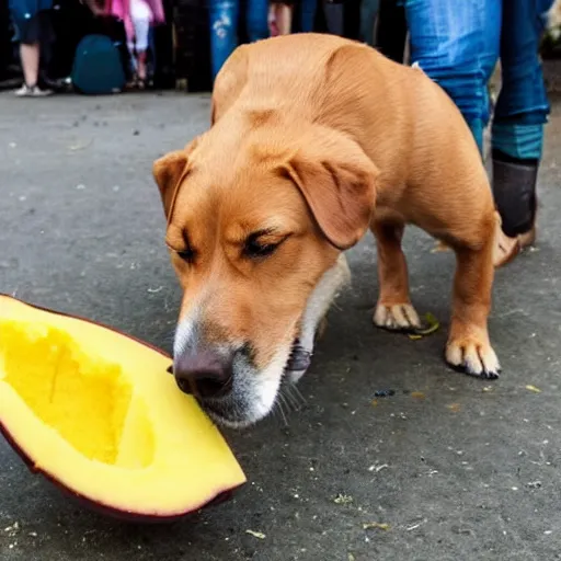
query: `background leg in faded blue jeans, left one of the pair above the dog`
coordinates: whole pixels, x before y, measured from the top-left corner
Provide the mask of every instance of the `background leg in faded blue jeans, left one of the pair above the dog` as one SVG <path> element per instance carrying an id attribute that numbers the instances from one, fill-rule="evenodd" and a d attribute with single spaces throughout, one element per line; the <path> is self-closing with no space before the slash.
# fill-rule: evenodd
<path id="1" fill-rule="evenodd" d="M 210 0 L 210 60 L 213 81 L 226 59 L 238 46 L 238 0 Z"/>

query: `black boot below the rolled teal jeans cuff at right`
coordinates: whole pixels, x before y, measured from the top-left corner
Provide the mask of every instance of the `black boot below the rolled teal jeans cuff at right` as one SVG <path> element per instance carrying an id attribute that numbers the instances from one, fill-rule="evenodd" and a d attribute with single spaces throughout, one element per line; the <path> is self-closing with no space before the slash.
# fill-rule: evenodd
<path id="1" fill-rule="evenodd" d="M 503 231 L 511 238 L 527 238 L 528 243 L 535 236 L 538 164 L 493 150 L 493 195 Z"/>

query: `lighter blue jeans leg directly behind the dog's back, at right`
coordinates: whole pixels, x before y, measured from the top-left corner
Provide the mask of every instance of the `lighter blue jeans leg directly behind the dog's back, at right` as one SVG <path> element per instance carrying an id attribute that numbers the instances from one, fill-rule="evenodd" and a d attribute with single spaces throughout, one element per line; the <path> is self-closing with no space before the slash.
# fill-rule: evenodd
<path id="1" fill-rule="evenodd" d="M 446 90 L 483 152 L 486 82 L 499 57 L 502 0 L 407 0 L 411 58 Z"/>

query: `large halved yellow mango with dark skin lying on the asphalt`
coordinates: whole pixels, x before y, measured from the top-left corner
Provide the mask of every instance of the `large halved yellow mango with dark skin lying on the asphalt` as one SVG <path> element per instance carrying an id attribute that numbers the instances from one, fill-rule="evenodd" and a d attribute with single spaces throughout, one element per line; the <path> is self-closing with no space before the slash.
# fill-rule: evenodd
<path id="1" fill-rule="evenodd" d="M 33 471 L 104 513 L 176 518 L 245 482 L 169 366 L 125 334 L 0 295 L 0 432 Z"/>

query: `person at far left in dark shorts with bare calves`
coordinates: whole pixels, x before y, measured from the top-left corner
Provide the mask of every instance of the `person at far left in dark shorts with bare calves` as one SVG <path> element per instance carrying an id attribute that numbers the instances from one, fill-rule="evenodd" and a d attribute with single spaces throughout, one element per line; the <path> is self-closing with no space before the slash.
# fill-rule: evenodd
<path id="1" fill-rule="evenodd" d="M 42 60 L 53 42 L 49 10 L 53 0 L 9 0 L 18 39 L 24 82 L 14 93 L 19 98 L 42 98 L 53 90 L 39 84 Z"/>

